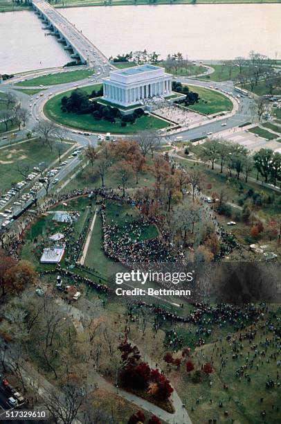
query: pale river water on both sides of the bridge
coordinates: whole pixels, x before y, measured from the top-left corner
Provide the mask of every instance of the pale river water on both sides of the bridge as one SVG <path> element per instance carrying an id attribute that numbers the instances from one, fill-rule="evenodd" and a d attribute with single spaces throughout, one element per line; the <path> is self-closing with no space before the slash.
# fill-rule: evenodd
<path id="1" fill-rule="evenodd" d="M 281 58 L 279 4 L 64 8 L 60 10 L 108 57 L 180 51 L 190 59 L 232 59 L 254 50 Z M 33 12 L 0 15 L 0 73 L 55 67 L 69 55 L 44 35 Z M 3 43 L 2 40 L 5 40 Z"/>

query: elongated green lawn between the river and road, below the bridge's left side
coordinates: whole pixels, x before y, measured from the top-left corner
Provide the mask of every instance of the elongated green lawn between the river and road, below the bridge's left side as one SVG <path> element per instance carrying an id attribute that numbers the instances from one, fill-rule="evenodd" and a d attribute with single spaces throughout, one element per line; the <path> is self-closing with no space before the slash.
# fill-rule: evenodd
<path id="1" fill-rule="evenodd" d="M 36 87 L 39 85 L 56 85 L 66 82 L 84 80 L 93 75 L 93 69 L 77 69 L 76 71 L 64 71 L 39 76 L 31 80 L 17 82 L 15 85 L 21 87 Z"/>

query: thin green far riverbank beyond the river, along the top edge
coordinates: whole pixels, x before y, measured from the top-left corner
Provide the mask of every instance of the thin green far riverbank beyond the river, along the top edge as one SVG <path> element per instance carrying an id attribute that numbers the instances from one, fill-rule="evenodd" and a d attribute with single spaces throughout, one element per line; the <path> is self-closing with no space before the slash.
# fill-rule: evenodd
<path id="1" fill-rule="evenodd" d="M 54 8 L 80 8 L 87 6 L 161 6 L 165 4 L 186 4 L 194 6 L 196 4 L 261 4 L 261 3 L 281 3 L 281 0 L 66 0 L 66 1 L 57 1 L 57 3 L 52 4 Z M 16 5 L 12 3 L 12 0 L 0 0 L 0 12 L 20 12 L 22 10 L 31 10 L 31 6 L 27 4 L 20 3 Z"/>

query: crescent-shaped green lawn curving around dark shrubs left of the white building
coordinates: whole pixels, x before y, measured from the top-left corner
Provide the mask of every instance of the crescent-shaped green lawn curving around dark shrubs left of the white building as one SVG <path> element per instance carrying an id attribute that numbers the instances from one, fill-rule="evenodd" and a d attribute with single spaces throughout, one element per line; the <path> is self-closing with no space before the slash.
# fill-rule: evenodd
<path id="1" fill-rule="evenodd" d="M 93 89 L 98 90 L 99 88 L 100 85 L 90 85 L 83 87 L 83 90 L 90 94 Z M 61 100 L 62 97 L 69 96 L 72 91 L 73 90 L 65 91 L 64 93 L 58 94 L 48 100 L 48 102 L 44 105 L 44 114 L 53 121 L 69 125 L 69 127 L 94 132 L 112 132 L 113 134 L 135 134 L 149 128 L 160 130 L 168 125 L 165 121 L 150 115 L 141 116 L 141 118 L 138 118 L 136 123 L 133 125 L 121 127 L 120 120 L 116 121 L 115 124 L 112 124 L 108 121 L 95 121 L 91 115 L 67 114 L 61 110 Z"/>

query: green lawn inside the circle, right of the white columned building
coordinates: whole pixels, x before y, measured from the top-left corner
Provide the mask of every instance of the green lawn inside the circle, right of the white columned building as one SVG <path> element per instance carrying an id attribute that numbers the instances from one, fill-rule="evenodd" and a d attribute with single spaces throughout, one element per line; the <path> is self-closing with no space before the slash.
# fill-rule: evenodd
<path id="1" fill-rule="evenodd" d="M 199 94 L 199 102 L 189 107 L 189 109 L 194 110 L 194 112 L 211 115 L 233 109 L 232 101 L 224 96 L 224 94 L 194 85 L 188 85 L 188 88 L 190 91 Z"/>

